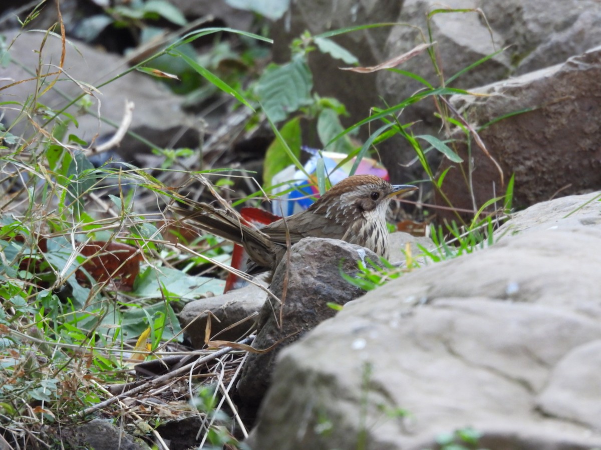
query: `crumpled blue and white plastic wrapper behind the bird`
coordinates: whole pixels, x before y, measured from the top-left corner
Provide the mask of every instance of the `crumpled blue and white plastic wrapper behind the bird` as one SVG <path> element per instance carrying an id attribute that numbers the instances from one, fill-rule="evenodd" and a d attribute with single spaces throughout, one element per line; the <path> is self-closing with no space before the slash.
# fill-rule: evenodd
<path id="1" fill-rule="evenodd" d="M 276 215 L 288 216 L 304 211 L 313 203 L 312 197 L 319 197 L 317 190 L 317 160 L 320 158 L 319 152 L 314 149 L 304 148 L 305 151 L 311 152 L 313 156 L 305 163 L 305 171 L 310 175 L 307 179 L 302 170 L 296 169 L 296 166 L 288 166 L 284 170 L 278 172 L 272 179 L 272 186 L 279 185 L 274 188 L 272 193 L 278 194 L 289 190 L 291 187 L 296 189 L 291 190 L 287 194 L 282 194 L 272 200 L 272 212 Z M 329 174 L 329 180 L 332 185 L 349 176 L 350 170 L 355 164 L 355 158 L 347 163 L 344 163 L 338 169 L 334 170 L 340 161 L 344 160 L 348 155 L 335 152 L 322 152 L 325 172 Z M 362 158 L 356 170 L 356 175 L 371 174 L 388 180 L 388 171 L 372 158 Z"/>

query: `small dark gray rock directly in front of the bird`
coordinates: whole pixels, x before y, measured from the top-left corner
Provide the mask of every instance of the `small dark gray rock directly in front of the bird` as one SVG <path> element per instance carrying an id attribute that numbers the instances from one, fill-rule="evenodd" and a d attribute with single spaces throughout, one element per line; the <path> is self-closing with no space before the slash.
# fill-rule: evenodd
<path id="1" fill-rule="evenodd" d="M 263 399 L 278 353 L 334 316 L 336 311 L 328 303 L 344 305 L 365 292 L 341 272 L 354 277 L 358 260 L 367 259 L 379 261 L 373 251 L 339 239 L 305 238 L 291 248 L 290 265 L 282 260 L 270 286 L 282 304 L 273 298 L 265 302 L 253 343 L 256 349 L 275 347 L 266 353 L 250 353 L 242 370 L 237 392 L 245 406 L 252 409 Z"/>

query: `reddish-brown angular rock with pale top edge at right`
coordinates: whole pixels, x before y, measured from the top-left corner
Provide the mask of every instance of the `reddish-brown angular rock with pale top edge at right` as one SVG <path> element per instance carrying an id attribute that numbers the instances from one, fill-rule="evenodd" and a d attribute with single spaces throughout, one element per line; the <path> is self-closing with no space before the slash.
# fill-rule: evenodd
<path id="1" fill-rule="evenodd" d="M 505 183 L 515 174 L 516 208 L 548 200 L 555 194 L 601 188 L 601 127 L 591 114 L 601 108 L 600 78 L 601 47 L 597 47 L 564 64 L 477 89 L 487 97 L 456 96 L 451 100 L 476 128 L 528 109 L 479 133 L 501 166 Z M 463 169 L 469 170 L 466 145 L 458 143 L 457 149 L 464 157 Z M 475 203 L 480 207 L 504 193 L 505 188 L 493 162 L 474 142 L 471 155 L 475 167 L 471 182 Z M 439 170 L 450 166 L 454 169 L 448 172 L 442 190 L 451 205 L 471 209 L 471 195 L 459 164 L 444 160 Z M 439 214 L 453 218 L 449 212 Z"/>

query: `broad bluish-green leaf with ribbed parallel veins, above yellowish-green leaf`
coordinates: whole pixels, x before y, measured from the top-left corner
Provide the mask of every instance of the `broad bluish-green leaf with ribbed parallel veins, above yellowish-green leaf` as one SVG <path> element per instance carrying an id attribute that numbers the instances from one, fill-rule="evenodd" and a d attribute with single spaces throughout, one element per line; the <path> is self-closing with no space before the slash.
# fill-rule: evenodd
<path id="1" fill-rule="evenodd" d="M 281 122 L 301 106 L 312 103 L 313 79 L 299 55 L 284 65 L 270 65 L 258 80 L 257 95 L 273 123 Z"/>

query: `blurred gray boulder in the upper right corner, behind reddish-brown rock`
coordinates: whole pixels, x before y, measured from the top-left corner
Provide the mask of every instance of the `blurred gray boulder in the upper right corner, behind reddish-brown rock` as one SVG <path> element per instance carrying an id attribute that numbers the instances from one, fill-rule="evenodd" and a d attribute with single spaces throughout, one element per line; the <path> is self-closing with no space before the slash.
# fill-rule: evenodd
<path id="1" fill-rule="evenodd" d="M 456 74 L 484 56 L 508 47 L 504 52 L 484 64 L 462 74 L 450 85 L 453 88 L 472 89 L 507 78 L 558 64 L 570 56 L 578 55 L 601 41 L 601 4 L 594 0 L 529 2 L 523 0 L 451 0 L 449 8 L 481 8 L 486 16 L 477 12 L 435 14 L 430 20 L 433 39 L 438 43 L 436 56 L 445 78 Z M 441 8 L 435 0 L 407 0 L 399 18 L 426 30 L 426 14 Z M 490 25 L 490 28 L 489 26 Z M 386 46 L 386 57 L 401 55 L 421 42 L 419 32 L 407 26 L 392 29 Z M 404 63 L 400 68 L 416 73 L 434 86 L 440 86 L 439 74 L 427 55 Z M 400 103 L 424 86 L 408 77 L 390 71 L 381 71 L 377 79 L 377 92 L 389 104 Z M 416 122 L 415 134 L 439 136 L 440 121 L 433 101 L 420 101 L 403 111 L 402 123 Z M 522 136 L 520 136 L 522 137 Z M 395 178 L 406 178 L 406 172 L 395 164 L 401 155 L 405 163 L 413 158 L 413 151 L 404 140 L 392 139 L 381 148 L 382 158 Z M 432 152 L 430 157 L 434 157 Z M 434 162 L 435 158 L 431 158 Z M 413 167 L 413 176 L 420 168 Z M 490 197 L 489 197 L 490 198 Z"/>

